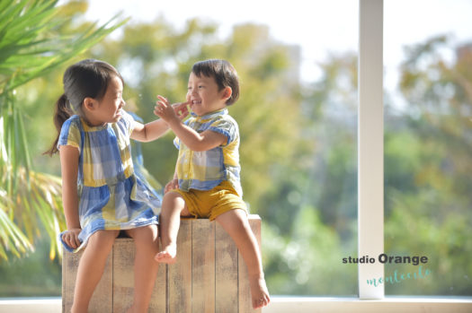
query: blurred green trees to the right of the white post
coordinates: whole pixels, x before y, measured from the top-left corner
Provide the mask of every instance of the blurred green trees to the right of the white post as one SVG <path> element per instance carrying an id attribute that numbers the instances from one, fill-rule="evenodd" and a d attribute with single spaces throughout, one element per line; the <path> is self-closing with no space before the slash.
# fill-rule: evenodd
<path id="1" fill-rule="evenodd" d="M 443 52 L 455 53 L 446 61 Z M 472 48 L 444 36 L 406 49 L 405 110 L 386 117 L 386 249 L 429 257 L 432 277 L 388 293 L 470 295 Z M 395 267 L 395 268 L 394 268 Z M 387 266 L 412 272 L 413 265 Z"/>

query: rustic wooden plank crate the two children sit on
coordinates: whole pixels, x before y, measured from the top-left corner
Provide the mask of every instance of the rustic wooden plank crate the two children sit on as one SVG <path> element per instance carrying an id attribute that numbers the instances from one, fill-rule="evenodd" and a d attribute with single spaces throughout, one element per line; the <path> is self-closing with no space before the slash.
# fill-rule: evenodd
<path id="1" fill-rule="evenodd" d="M 249 215 L 261 247 L 261 219 Z M 133 239 L 116 239 L 89 312 L 125 312 L 133 300 Z M 69 312 L 82 253 L 64 251 L 62 311 Z M 252 309 L 247 268 L 234 241 L 217 222 L 182 220 L 177 238 L 177 262 L 159 265 L 149 312 L 261 312 Z"/>

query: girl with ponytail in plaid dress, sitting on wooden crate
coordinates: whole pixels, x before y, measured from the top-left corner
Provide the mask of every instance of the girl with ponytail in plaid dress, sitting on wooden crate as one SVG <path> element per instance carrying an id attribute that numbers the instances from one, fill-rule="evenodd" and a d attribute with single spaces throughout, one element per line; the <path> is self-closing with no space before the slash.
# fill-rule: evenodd
<path id="1" fill-rule="evenodd" d="M 135 175 L 129 138 L 147 142 L 168 129 L 159 119 L 140 124 L 123 110 L 123 79 L 111 65 L 86 59 L 67 68 L 64 94 L 56 103 L 67 230 L 65 248 L 85 248 L 76 277 L 72 312 L 86 312 L 114 239 L 124 230 L 136 244 L 135 289 L 129 312 L 145 312 L 156 280 L 157 214 L 161 201 Z M 186 103 L 176 107 L 184 117 Z M 76 113 L 72 115 L 71 112 Z"/>

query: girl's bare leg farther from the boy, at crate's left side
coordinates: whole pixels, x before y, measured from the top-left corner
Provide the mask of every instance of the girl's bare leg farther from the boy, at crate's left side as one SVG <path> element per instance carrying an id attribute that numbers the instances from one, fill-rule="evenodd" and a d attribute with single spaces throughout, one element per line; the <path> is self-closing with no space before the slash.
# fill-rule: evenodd
<path id="1" fill-rule="evenodd" d="M 88 239 L 77 268 L 76 289 L 71 312 L 87 312 L 95 287 L 102 278 L 106 260 L 118 230 L 98 230 Z"/>

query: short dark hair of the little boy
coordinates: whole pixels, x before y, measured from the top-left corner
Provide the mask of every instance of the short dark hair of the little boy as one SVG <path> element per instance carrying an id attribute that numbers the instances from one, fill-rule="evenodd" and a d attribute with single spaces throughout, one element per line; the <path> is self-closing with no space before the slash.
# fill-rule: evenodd
<path id="1" fill-rule="evenodd" d="M 239 78 L 236 69 L 226 60 L 210 59 L 195 63 L 191 67 L 191 73 L 200 77 L 214 77 L 218 84 L 218 91 L 226 87 L 231 88 L 231 97 L 226 101 L 227 106 L 236 102 L 239 98 Z"/>

